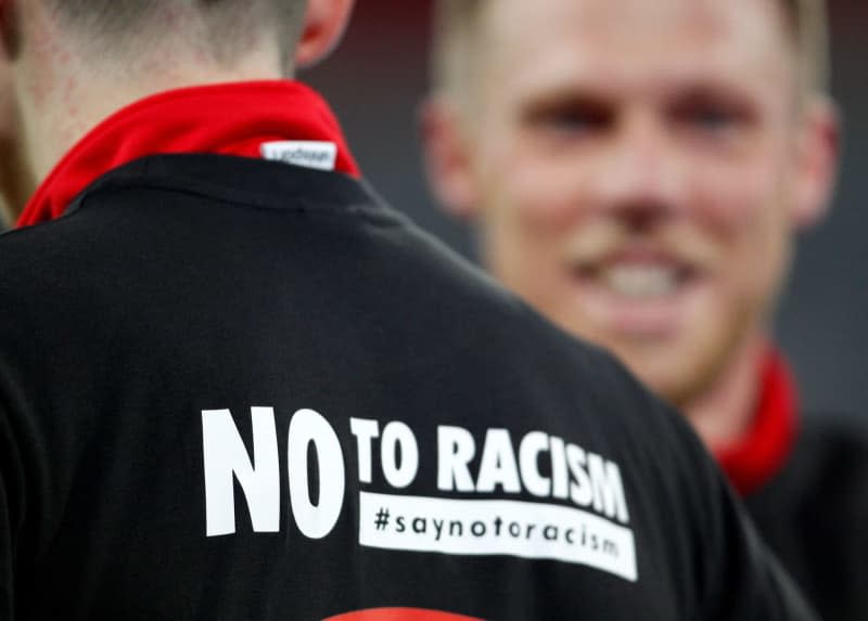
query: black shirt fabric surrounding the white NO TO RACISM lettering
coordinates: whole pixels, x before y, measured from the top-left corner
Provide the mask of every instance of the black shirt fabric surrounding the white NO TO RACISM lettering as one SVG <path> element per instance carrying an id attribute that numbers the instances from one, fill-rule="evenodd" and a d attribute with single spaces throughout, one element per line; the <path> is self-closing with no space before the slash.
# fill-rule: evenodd
<path id="1" fill-rule="evenodd" d="M 285 621 L 384 606 L 497 620 L 813 619 L 680 416 L 363 184 L 151 157 L 110 172 L 64 218 L 4 234 L 0 257 L 0 619 Z M 254 532 L 235 481 L 235 532 L 207 536 L 203 411 L 231 411 L 259 467 L 252 407 L 273 407 L 279 529 Z M 343 451 L 343 507 L 320 539 L 288 500 L 288 434 L 303 409 Z M 352 417 L 412 430 L 412 482 L 386 481 L 376 441 L 360 481 Z M 442 426 L 475 440 L 473 477 L 499 429 L 516 454 L 526 435 L 549 435 L 529 466 L 549 482 L 551 437 L 611 461 L 626 523 L 526 483 L 444 491 Z M 359 514 L 360 492 L 580 508 L 631 531 L 638 579 L 362 546 L 374 516 Z"/>

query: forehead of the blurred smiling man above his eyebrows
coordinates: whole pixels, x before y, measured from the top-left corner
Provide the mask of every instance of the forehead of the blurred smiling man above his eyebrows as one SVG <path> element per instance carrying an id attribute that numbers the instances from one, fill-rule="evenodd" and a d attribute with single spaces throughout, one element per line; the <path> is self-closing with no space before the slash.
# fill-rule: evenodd
<path id="1" fill-rule="evenodd" d="M 718 73 L 780 80 L 792 54 L 778 2 L 497 0 L 480 33 L 483 61 L 489 77 L 511 81 L 569 74 L 638 86 Z"/>

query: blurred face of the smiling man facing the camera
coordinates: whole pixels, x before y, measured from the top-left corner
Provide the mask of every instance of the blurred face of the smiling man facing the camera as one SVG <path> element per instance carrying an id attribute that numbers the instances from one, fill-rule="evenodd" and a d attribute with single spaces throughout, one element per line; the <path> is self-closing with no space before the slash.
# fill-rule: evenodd
<path id="1" fill-rule="evenodd" d="M 469 127 L 483 257 L 682 404 L 762 329 L 800 197 L 777 0 L 497 0 Z"/>

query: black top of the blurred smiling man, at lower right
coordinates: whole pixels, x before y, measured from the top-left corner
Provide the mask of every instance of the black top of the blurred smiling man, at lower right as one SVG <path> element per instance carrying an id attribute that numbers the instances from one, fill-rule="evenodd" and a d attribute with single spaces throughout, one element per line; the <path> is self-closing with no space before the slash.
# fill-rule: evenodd
<path id="1" fill-rule="evenodd" d="M 840 417 L 837 417 L 840 418 Z M 827 621 L 868 619 L 868 437 L 806 416 L 783 470 L 745 499 L 757 529 Z"/>

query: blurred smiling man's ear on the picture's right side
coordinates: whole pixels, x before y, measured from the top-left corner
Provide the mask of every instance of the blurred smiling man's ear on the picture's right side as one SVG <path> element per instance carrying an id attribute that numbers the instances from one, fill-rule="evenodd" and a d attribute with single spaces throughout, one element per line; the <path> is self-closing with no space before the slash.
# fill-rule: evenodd
<path id="1" fill-rule="evenodd" d="M 797 229 L 814 225 L 829 210 L 841 154 L 840 119 L 834 103 L 817 96 L 803 114 L 793 211 Z"/>

